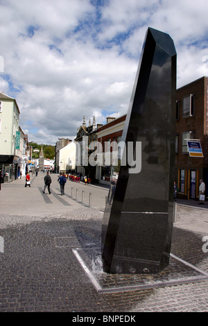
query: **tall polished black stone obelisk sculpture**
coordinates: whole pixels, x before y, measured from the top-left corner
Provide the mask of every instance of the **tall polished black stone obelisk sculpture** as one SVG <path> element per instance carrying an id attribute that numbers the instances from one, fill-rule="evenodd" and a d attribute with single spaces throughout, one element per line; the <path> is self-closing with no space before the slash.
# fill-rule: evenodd
<path id="1" fill-rule="evenodd" d="M 148 28 L 123 129 L 126 157 L 121 160 L 119 178 L 110 189 L 103 216 L 106 273 L 155 274 L 169 264 L 175 88 L 173 40 Z"/>

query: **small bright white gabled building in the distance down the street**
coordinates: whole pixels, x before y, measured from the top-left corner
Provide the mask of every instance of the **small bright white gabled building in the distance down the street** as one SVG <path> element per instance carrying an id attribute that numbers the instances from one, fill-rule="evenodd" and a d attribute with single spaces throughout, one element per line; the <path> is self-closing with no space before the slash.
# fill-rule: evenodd
<path id="1" fill-rule="evenodd" d="M 76 144 L 71 141 L 67 146 L 60 149 L 59 166 L 60 172 L 71 173 L 75 170 Z"/>

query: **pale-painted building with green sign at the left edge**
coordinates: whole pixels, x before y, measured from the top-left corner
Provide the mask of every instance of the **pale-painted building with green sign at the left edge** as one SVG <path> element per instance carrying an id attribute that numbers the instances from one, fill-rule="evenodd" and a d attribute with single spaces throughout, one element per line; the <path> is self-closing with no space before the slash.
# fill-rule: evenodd
<path id="1" fill-rule="evenodd" d="M 15 98 L 0 92 L 0 169 L 8 182 L 18 175 L 19 157 L 15 145 L 20 141 L 19 114 Z"/>

